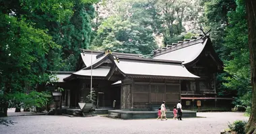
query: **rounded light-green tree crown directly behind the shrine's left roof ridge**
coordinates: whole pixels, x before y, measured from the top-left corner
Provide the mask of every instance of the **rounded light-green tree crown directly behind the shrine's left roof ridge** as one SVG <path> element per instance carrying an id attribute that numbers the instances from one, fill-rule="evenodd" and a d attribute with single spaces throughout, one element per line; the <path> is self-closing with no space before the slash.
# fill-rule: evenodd
<path id="1" fill-rule="evenodd" d="M 103 21 L 92 44 L 98 50 L 145 55 L 156 48 L 150 28 L 123 21 L 120 17 L 109 17 Z"/>

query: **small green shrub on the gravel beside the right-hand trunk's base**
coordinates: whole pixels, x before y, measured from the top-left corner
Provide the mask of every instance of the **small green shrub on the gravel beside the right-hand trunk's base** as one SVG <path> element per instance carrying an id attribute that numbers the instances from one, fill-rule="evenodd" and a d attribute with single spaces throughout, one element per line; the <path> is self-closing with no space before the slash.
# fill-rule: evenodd
<path id="1" fill-rule="evenodd" d="M 235 131 L 238 134 L 245 134 L 245 125 L 246 121 L 234 121 L 233 124 L 229 124 L 228 127 L 230 130 Z"/>

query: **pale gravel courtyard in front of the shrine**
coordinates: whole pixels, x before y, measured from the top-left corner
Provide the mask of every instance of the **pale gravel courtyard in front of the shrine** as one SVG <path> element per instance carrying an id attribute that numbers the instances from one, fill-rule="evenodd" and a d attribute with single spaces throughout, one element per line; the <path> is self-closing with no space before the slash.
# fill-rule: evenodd
<path id="1" fill-rule="evenodd" d="M 197 113 L 198 118 L 187 118 L 183 121 L 168 119 L 121 120 L 107 117 L 65 117 L 65 116 L 25 116 L 7 117 L 17 122 L 5 127 L 0 125 L 1 134 L 50 134 L 50 133 L 93 133 L 93 134 L 150 134 L 150 133 L 179 133 L 179 134 L 214 134 L 228 127 L 228 122 L 248 120 L 243 113 Z M 199 118 L 204 117 L 204 118 Z"/>

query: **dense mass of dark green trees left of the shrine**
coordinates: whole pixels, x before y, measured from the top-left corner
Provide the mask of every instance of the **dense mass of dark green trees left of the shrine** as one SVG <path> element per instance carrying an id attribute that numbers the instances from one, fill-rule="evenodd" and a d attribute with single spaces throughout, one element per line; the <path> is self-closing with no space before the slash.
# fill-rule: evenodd
<path id="1" fill-rule="evenodd" d="M 59 70 L 67 57 L 79 55 L 77 48 L 88 46 L 94 2 L 0 1 L 0 111 L 5 111 L 4 116 L 9 104 L 42 107 L 48 100 L 45 93 L 30 90 L 49 80 L 47 70 Z M 67 70 L 73 70 L 75 64 L 68 62 Z"/>

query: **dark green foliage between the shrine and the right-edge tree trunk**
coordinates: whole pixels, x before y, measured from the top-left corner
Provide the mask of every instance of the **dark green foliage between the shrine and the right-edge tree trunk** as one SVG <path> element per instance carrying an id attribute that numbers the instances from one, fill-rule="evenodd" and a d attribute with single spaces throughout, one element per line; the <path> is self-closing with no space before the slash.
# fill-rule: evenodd
<path id="1" fill-rule="evenodd" d="M 236 90 L 238 100 L 236 105 L 250 106 L 251 84 L 250 84 L 250 64 L 248 48 L 248 31 L 245 14 L 245 4 L 236 1 L 235 11 L 228 13 L 229 25 L 226 27 L 226 37 L 224 38 L 225 68 L 229 76 L 224 79 L 227 82 L 224 86 Z"/>

